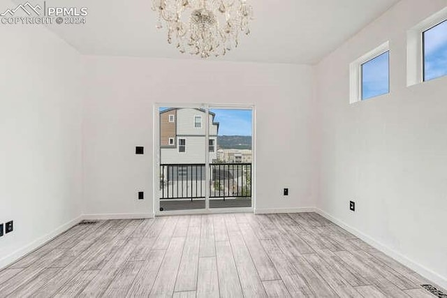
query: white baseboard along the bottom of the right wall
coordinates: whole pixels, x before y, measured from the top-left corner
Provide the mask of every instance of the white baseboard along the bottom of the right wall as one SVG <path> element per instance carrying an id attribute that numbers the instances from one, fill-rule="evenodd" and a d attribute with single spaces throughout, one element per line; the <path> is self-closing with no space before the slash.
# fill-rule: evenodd
<path id="1" fill-rule="evenodd" d="M 415 262 L 413 260 L 410 260 L 405 255 L 402 255 L 401 253 L 393 250 L 392 248 L 390 248 L 384 244 L 381 244 L 381 242 L 376 241 L 376 239 L 369 237 L 367 234 L 360 232 L 360 230 L 357 230 L 356 228 L 352 228 L 350 225 L 347 225 L 343 221 L 340 221 L 338 218 L 331 216 L 330 214 L 326 213 L 325 211 L 318 209 L 318 208 L 315 208 L 314 210 L 316 213 L 320 214 L 321 216 L 328 219 L 329 221 L 332 221 L 332 223 L 339 225 L 339 227 L 343 228 L 344 230 L 351 232 L 351 234 L 354 234 L 356 237 L 362 239 L 370 246 L 378 249 L 382 253 L 385 253 L 389 257 L 395 259 L 397 262 L 400 262 L 402 265 L 405 265 L 406 267 L 409 267 L 413 271 L 416 271 L 416 273 L 427 278 L 428 280 L 430 280 L 434 283 L 437 283 L 442 288 L 447 288 L 447 278 L 446 277 L 437 274 L 436 272 L 428 269 L 427 267 L 424 267 L 423 265 L 418 264 L 417 262 Z"/>

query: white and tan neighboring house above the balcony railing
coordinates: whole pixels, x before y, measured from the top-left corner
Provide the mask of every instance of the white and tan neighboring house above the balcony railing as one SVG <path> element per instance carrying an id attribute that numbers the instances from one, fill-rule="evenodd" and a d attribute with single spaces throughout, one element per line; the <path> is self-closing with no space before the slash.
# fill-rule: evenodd
<path id="1" fill-rule="evenodd" d="M 210 163 L 217 160 L 216 114 L 209 113 Z M 160 112 L 161 164 L 205 164 L 205 110 L 173 108 Z"/>

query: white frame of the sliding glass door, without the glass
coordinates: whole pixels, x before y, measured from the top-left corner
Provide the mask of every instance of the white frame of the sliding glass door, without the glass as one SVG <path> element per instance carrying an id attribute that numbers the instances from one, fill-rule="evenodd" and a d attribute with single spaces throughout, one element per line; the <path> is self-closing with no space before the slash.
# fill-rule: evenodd
<path id="1" fill-rule="evenodd" d="M 160 211 L 160 161 L 161 161 L 161 148 L 160 148 L 160 108 L 161 107 L 178 107 L 178 108 L 191 108 L 191 109 L 204 109 L 206 111 L 205 121 L 205 209 L 197 210 L 179 210 L 179 211 Z M 252 174 L 251 174 L 251 207 L 240 208 L 210 208 L 210 175 L 208 169 L 210 168 L 210 152 L 207 140 L 210 139 L 210 121 L 209 115 L 212 109 L 225 109 L 225 110 L 251 110 L 251 154 L 252 154 Z M 240 105 L 240 104 L 221 104 L 221 103 L 155 103 L 154 104 L 154 124 L 152 135 L 153 140 L 153 181 L 152 181 L 152 207 L 154 208 L 154 214 L 156 216 L 168 216 L 168 215 L 188 215 L 188 214 L 219 214 L 219 213 L 254 213 L 256 209 L 256 107 L 255 105 Z M 216 148 L 217 149 L 217 148 Z"/>

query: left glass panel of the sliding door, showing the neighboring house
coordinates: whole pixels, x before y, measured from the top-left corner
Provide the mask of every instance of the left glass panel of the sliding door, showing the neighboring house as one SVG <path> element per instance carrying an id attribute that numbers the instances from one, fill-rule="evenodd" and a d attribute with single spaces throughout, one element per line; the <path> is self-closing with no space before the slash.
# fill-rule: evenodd
<path id="1" fill-rule="evenodd" d="M 206 207 L 206 114 L 200 108 L 159 108 L 160 211 Z"/>

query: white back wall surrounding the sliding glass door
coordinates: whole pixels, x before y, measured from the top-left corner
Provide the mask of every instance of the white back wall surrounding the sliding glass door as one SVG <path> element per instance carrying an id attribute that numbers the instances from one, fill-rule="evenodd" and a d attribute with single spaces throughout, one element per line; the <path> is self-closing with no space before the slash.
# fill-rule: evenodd
<path id="1" fill-rule="evenodd" d="M 85 214 L 152 214 L 154 103 L 255 104 L 257 209 L 314 206 L 311 66 L 86 57 Z M 135 146 L 145 155 L 135 156 Z M 289 187 L 291 195 L 281 197 Z M 145 191 L 146 200 L 137 200 Z"/>

